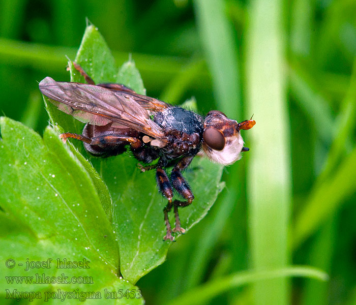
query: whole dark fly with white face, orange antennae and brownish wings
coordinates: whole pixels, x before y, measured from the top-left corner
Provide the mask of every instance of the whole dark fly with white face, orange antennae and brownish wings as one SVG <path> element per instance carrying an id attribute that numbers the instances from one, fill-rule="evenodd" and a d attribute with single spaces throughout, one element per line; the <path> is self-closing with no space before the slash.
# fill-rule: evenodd
<path id="1" fill-rule="evenodd" d="M 252 128 L 249 119 L 238 123 L 218 110 L 205 117 L 155 98 L 139 95 L 122 84 L 95 84 L 76 63 L 76 70 L 87 84 L 57 82 L 43 79 L 39 88 L 43 95 L 61 111 L 86 123 L 81 135 L 64 133 L 60 137 L 83 142 L 85 149 L 97 157 L 117 156 L 130 149 L 145 166 L 141 171 L 156 169 L 157 185 L 168 203 L 163 209 L 167 233 L 164 240 L 173 240 L 173 232 L 184 233 L 179 207 L 192 203 L 194 195 L 182 175 L 200 152 L 213 162 L 230 165 L 241 158 L 244 147 L 241 130 Z M 154 161 L 158 160 L 155 164 Z M 170 176 L 167 168 L 172 167 Z M 184 200 L 173 201 L 173 189 Z M 172 229 L 168 212 L 173 208 L 175 227 Z"/>

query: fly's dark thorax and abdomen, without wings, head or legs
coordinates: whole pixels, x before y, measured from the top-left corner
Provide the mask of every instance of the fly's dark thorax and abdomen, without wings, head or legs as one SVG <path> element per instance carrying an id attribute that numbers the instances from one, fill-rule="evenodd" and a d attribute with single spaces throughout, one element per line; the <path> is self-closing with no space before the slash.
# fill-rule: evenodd
<path id="1" fill-rule="evenodd" d="M 167 136 L 168 143 L 162 148 L 144 143 L 142 138 L 145 134 L 134 129 L 120 129 L 121 137 L 118 138 L 117 128 L 91 124 L 86 124 L 83 129 L 82 135 L 92 139 L 91 143 L 84 142 L 84 147 L 98 157 L 120 155 L 129 148 L 138 161 L 150 164 L 159 158 L 159 165 L 162 167 L 168 164 L 172 166 L 174 160 L 178 162 L 182 157 L 195 156 L 198 153 L 203 133 L 203 118 L 200 115 L 181 107 L 171 106 L 157 112 L 152 119 Z M 128 146 L 130 142 L 122 137 L 139 139 L 142 144 L 139 147 Z"/>

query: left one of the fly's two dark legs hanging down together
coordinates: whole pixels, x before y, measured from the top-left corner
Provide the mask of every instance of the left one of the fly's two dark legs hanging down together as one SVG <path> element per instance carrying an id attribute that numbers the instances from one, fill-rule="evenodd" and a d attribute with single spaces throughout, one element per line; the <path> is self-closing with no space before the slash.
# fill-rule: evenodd
<path id="1" fill-rule="evenodd" d="M 172 209 L 173 188 L 169 182 L 167 173 L 161 167 L 158 167 L 156 170 L 156 179 L 157 179 L 157 185 L 161 193 L 163 194 L 164 197 L 168 199 L 168 203 L 163 209 L 164 222 L 167 228 L 167 234 L 166 236 L 163 237 L 163 240 L 167 240 L 167 239 L 173 240 L 172 228 L 170 226 L 169 219 L 168 219 L 168 212 Z"/>

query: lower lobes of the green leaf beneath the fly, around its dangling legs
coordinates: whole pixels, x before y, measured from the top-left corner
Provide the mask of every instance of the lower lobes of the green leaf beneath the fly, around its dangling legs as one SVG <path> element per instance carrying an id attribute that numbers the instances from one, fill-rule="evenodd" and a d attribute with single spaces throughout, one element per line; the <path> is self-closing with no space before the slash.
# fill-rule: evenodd
<path id="1" fill-rule="evenodd" d="M 130 156 L 120 156 L 102 164 L 114 203 L 114 222 L 120 242 L 121 272 L 135 283 L 162 263 L 170 242 L 163 241 L 165 225 L 163 208 L 166 200 L 158 194 L 155 172 L 141 173 Z M 109 170 L 111 168 L 111 170 Z M 206 159 L 194 160 L 186 178 L 195 200 L 180 209 L 184 228 L 199 222 L 213 205 L 224 184 L 220 182 L 222 167 Z M 170 217 L 174 223 L 173 215 Z"/>

